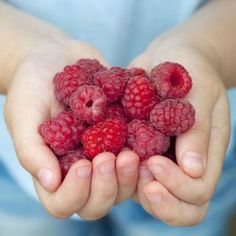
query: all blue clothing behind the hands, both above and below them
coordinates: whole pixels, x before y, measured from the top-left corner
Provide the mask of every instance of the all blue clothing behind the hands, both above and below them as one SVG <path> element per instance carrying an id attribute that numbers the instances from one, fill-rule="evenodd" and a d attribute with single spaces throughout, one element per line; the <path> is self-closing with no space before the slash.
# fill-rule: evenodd
<path id="1" fill-rule="evenodd" d="M 204 1 L 9 0 L 9 2 L 57 25 L 74 38 L 92 43 L 111 64 L 127 65 L 152 39 L 185 20 Z M 233 104 L 236 101 L 236 90 L 230 91 L 229 98 L 233 132 L 221 181 L 203 224 L 185 228 L 169 227 L 153 219 L 140 206 L 130 201 L 114 207 L 109 217 L 94 223 L 57 221 L 47 216 L 37 201 L 29 174 L 17 161 L 3 115 L 0 115 L 0 236 L 223 236 L 226 232 L 226 222 L 236 202 L 234 197 L 236 104 Z M 0 97 L 0 111 L 3 103 L 4 98 Z M 25 220 L 22 220 L 23 217 Z"/>

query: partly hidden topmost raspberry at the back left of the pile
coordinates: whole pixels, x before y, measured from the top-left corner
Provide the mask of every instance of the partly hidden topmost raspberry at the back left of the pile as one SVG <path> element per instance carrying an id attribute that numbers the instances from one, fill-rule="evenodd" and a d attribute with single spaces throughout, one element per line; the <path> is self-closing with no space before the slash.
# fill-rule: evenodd
<path id="1" fill-rule="evenodd" d="M 100 64 L 96 59 L 80 59 L 76 64 L 81 66 L 92 77 L 98 71 L 106 70 L 106 67 Z"/>

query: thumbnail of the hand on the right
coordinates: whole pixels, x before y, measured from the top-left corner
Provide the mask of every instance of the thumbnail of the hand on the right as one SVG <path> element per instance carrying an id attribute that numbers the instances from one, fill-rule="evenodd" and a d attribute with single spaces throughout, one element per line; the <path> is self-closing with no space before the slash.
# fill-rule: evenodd
<path id="1" fill-rule="evenodd" d="M 187 151 L 183 155 L 183 165 L 188 169 L 203 170 L 204 163 L 202 157 L 193 151 Z"/>

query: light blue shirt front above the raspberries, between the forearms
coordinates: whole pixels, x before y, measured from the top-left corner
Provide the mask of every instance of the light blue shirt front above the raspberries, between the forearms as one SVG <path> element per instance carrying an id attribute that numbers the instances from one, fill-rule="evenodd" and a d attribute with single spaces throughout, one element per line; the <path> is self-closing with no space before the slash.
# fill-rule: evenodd
<path id="1" fill-rule="evenodd" d="M 95 45 L 112 65 L 126 65 L 157 35 L 204 0 L 8 0 Z"/>

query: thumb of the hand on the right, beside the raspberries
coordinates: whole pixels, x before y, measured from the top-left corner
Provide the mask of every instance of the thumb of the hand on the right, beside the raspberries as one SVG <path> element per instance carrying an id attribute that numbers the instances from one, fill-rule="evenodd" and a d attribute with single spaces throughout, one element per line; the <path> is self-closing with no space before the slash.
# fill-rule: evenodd
<path id="1" fill-rule="evenodd" d="M 208 93 L 207 89 L 206 86 L 196 84 L 191 91 L 188 100 L 196 110 L 195 124 L 176 139 L 177 162 L 187 174 L 195 178 L 203 176 L 206 170 L 212 111 L 218 97 L 218 92 L 214 90 L 211 96 L 202 96 Z"/>

